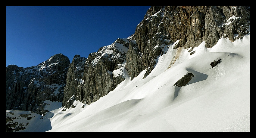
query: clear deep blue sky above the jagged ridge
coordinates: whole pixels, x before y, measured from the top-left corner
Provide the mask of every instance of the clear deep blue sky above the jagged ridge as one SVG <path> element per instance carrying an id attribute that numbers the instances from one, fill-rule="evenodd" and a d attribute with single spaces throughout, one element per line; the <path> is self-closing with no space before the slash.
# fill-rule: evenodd
<path id="1" fill-rule="evenodd" d="M 62 53 L 72 62 L 134 34 L 150 6 L 6 6 L 6 66 L 36 66 Z"/>

